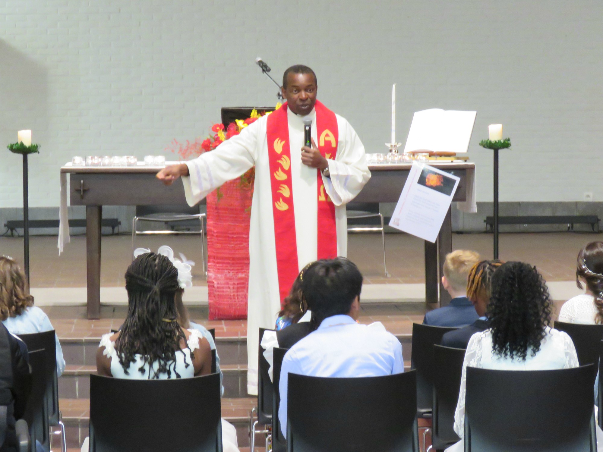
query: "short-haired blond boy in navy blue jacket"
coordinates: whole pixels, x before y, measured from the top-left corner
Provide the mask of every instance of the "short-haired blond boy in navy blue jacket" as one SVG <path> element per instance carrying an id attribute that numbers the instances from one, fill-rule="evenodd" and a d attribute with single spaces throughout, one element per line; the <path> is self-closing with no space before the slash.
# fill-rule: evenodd
<path id="1" fill-rule="evenodd" d="M 464 327 L 479 318 L 473 303 L 467 298 L 467 278 L 479 260 L 479 254 L 475 251 L 456 250 L 446 254 L 442 285 L 450 293 L 452 300 L 448 306 L 426 313 L 424 325 Z"/>

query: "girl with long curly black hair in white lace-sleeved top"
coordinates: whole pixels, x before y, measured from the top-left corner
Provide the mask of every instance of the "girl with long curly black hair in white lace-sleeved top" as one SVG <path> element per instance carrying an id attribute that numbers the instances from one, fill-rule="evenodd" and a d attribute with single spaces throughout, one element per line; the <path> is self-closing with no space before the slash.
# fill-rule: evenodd
<path id="1" fill-rule="evenodd" d="M 578 367 L 572 339 L 551 324 L 552 302 L 534 266 L 507 262 L 490 281 L 490 329 L 475 333 L 467 345 L 454 430 L 463 438 L 467 366 L 499 370 L 548 370 Z M 464 448 L 463 439 L 447 451 Z"/>

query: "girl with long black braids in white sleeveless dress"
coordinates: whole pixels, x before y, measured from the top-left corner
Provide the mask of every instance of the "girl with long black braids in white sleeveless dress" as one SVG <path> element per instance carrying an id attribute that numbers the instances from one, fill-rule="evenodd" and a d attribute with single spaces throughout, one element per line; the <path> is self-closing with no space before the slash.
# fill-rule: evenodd
<path id="1" fill-rule="evenodd" d="M 178 324 L 174 300 L 180 284 L 169 258 L 156 253 L 137 256 L 125 272 L 125 288 L 128 313 L 118 333 L 101 339 L 96 352 L 98 374 L 133 380 L 209 374 L 209 342 L 199 331 Z M 239 450 L 236 429 L 224 419 L 222 438 L 225 452 Z"/>

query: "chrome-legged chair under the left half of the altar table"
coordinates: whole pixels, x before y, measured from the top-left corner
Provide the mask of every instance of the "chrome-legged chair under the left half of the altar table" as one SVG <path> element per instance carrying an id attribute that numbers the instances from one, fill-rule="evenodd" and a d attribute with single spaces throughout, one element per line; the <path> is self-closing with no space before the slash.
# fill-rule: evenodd
<path id="1" fill-rule="evenodd" d="M 152 215 L 152 216 L 151 216 Z M 132 254 L 136 249 L 136 236 L 140 235 L 180 235 L 180 234 L 201 234 L 201 265 L 203 274 L 207 278 L 207 256 L 205 253 L 205 224 L 206 214 L 201 213 L 200 206 L 136 206 L 136 216 L 132 220 Z M 166 231 L 139 231 L 137 223 L 139 221 L 151 221 L 163 223 L 170 228 Z M 194 227 L 196 222 L 200 222 L 200 231 L 176 231 L 177 226 Z"/>

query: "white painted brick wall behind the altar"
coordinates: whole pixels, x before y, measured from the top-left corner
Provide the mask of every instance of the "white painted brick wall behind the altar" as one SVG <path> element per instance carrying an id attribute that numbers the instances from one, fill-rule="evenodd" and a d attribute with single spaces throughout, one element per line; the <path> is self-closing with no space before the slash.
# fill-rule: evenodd
<path id="1" fill-rule="evenodd" d="M 131 4 L 128 4 L 131 3 Z M 205 135 L 219 108 L 273 105 L 294 63 L 320 99 L 385 151 L 391 84 L 404 142 L 412 112 L 478 111 L 470 155 L 491 199 L 502 122 L 502 201 L 603 201 L 600 0 L 0 0 L 0 207 L 21 206 L 20 157 L 4 145 L 33 129 L 31 206 L 57 206 L 72 155 L 163 152 Z"/>

